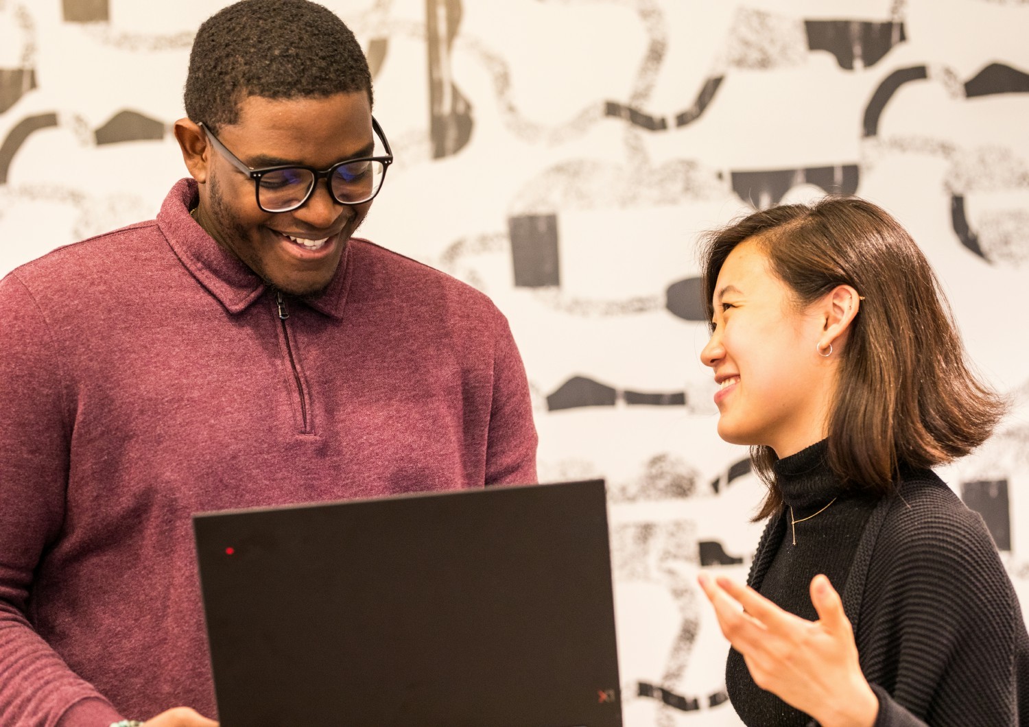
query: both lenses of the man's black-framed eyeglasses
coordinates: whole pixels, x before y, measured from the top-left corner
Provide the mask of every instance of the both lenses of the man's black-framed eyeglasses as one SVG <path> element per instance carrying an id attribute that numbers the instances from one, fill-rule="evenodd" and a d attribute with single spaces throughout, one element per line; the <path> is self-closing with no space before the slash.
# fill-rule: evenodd
<path id="1" fill-rule="evenodd" d="M 329 188 L 341 204 L 366 202 L 379 191 L 385 174 L 382 161 L 345 161 L 333 168 Z M 314 173 L 301 168 L 268 172 L 257 182 L 257 201 L 269 212 L 291 210 L 307 199 L 315 181 Z"/>

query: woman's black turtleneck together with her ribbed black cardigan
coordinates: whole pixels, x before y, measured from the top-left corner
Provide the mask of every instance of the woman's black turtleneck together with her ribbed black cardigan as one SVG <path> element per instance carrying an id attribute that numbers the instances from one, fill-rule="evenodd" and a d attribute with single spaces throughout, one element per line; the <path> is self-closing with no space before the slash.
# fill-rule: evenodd
<path id="1" fill-rule="evenodd" d="M 826 451 L 823 440 L 775 464 L 785 507 L 748 583 L 814 620 L 811 579 L 829 578 L 879 698 L 876 727 L 1005 727 L 1020 712 L 1029 725 L 1029 637 L 982 518 L 928 470 L 902 471 L 881 500 L 844 488 Z M 811 515 L 796 522 L 794 545 L 791 518 Z M 725 682 L 749 727 L 816 724 L 757 687 L 735 649 Z"/>

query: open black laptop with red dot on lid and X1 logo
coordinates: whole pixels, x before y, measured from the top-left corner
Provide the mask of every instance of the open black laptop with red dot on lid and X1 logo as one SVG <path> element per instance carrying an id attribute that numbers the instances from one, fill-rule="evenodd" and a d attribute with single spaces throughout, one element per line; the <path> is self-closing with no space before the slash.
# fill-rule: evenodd
<path id="1" fill-rule="evenodd" d="M 622 725 L 603 481 L 193 526 L 222 727 Z"/>

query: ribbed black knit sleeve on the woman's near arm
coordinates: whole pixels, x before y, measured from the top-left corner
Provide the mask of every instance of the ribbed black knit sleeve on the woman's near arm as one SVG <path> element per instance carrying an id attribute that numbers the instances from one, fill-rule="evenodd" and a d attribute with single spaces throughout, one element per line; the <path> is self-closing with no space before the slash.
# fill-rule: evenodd
<path id="1" fill-rule="evenodd" d="M 1018 725 L 1026 629 L 985 523 L 960 503 L 895 512 L 868 571 L 873 608 L 858 641 L 880 700 L 876 727 Z"/>

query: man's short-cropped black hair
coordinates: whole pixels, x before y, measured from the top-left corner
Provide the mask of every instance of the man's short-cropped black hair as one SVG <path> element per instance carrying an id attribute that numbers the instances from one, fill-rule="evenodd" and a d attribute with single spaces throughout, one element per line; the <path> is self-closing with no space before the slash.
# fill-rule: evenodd
<path id="1" fill-rule="evenodd" d="M 367 92 L 360 43 L 331 10 L 308 0 L 242 0 L 207 19 L 189 53 L 186 116 L 215 133 L 251 96 L 296 99 Z"/>

